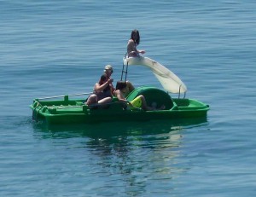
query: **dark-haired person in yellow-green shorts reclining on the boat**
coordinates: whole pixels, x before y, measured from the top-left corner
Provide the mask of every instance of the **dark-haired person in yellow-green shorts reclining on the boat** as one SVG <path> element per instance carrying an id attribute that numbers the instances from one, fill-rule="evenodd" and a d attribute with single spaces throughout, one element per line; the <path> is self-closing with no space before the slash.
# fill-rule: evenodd
<path id="1" fill-rule="evenodd" d="M 118 81 L 116 84 L 116 90 L 115 90 L 115 96 L 118 98 L 120 102 L 123 103 L 128 103 L 131 105 L 131 107 L 137 107 L 137 108 L 142 108 L 145 111 L 153 111 L 153 110 L 163 110 L 166 107 L 163 105 L 160 108 L 156 107 L 149 107 L 147 105 L 147 101 L 143 95 L 137 96 L 134 100 L 132 101 L 127 101 L 125 99 L 125 96 L 123 95 L 123 91 L 126 89 L 126 82 L 124 81 Z"/>

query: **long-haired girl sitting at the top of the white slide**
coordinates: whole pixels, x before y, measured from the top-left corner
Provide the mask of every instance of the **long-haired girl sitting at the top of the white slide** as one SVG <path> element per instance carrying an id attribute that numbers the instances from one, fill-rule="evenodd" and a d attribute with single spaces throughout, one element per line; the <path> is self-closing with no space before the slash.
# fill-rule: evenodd
<path id="1" fill-rule="evenodd" d="M 137 57 L 139 54 L 144 54 L 145 50 L 138 50 L 137 45 L 140 43 L 140 33 L 137 29 L 131 31 L 131 38 L 127 43 L 128 57 Z"/>

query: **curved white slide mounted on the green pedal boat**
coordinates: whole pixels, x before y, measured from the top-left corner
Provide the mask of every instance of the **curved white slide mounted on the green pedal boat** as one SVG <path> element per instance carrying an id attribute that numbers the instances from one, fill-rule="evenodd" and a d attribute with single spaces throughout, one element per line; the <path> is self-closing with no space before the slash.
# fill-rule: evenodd
<path id="1" fill-rule="evenodd" d="M 155 77 L 160 81 L 163 88 L 171 93 L 184 93 L 187 87 L 182 80 L 177 77 L 172 71 L 162 66 L 159 62 L 151 60 L 148 57 L 129 57 L 124 58 L 125 65 L 137 65 L 149 67 L 154 72 Z"/>

